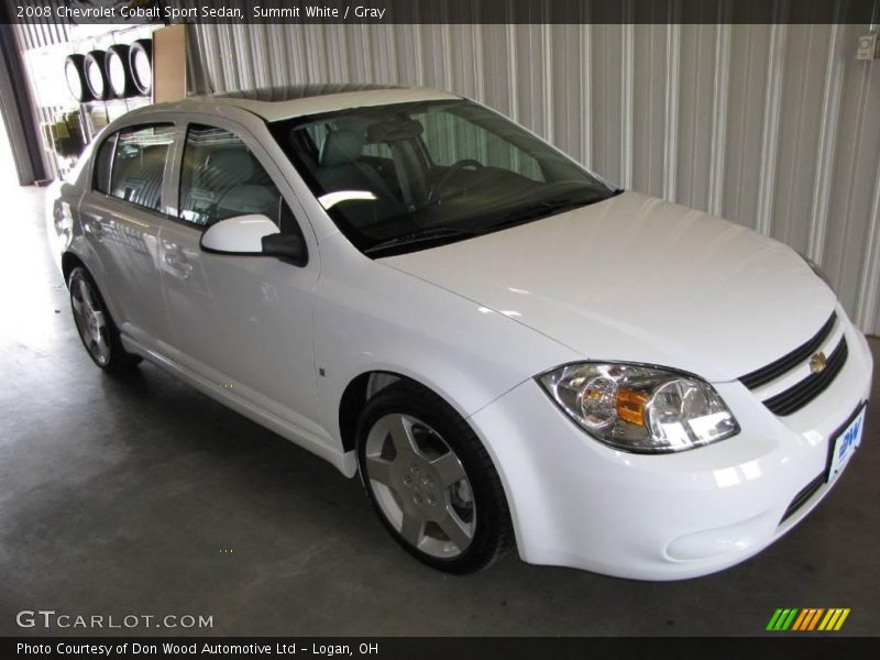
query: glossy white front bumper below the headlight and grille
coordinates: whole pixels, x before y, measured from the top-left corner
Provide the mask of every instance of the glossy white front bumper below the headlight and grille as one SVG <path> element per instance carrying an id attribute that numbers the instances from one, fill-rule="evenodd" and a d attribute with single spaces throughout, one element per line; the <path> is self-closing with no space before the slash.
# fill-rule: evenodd
<path id="1" fill-rule="evenodd" d="M 850 351 L 831 386 L 783 418 L 738 381 L 713 383 L 741 431 L 708 447 L 661 455 L 613 450 L 575 427 L 534 381 L 473 415 L 504 483 L 522 560 L 678 580 L 739 563 L 785 534 L 836 483 L 822 483 L 789 510 L 824 474 L 829 441 L 870 391 L 867 341 L 838 314 Z"/>

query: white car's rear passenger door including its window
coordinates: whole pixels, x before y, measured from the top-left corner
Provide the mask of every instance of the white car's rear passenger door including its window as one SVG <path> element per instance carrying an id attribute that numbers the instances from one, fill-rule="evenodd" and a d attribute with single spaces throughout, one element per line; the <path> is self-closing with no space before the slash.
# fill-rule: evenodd
<path id="1" fill-rule="evenodd" d="M 79 205 L 89 266 L 120 330 L 147 348 L 170 338 L 158 277 L 163 187 L 173 123 L 138 124 L 102 139 Z"/>

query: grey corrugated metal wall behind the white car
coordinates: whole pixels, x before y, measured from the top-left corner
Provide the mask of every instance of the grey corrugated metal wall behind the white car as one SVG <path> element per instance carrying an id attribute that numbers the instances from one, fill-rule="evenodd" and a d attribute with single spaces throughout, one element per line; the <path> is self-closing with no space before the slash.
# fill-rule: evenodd
<path id="1" fill-rule="evenodd" d="M 854 320 L 880 333 L 880 63 L 855 59 L 866 29 L 198 25 L 190 36 L 196 84 L 216 91 L 397 82 L 485 102 L 625 187 L 810 254 Z"/>

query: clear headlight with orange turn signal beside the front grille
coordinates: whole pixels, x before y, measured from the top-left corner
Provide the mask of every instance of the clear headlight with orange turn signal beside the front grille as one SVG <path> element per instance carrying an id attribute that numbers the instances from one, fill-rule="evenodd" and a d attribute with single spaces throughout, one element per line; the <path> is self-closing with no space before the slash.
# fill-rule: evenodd
<path id="1" fill-rule="evenodd" d="M 636 364 L 584 362 L 537 377 L 557 405 L 600 442 L 636 453 L 684 451 L 739 432 L 708 383 Z"/>

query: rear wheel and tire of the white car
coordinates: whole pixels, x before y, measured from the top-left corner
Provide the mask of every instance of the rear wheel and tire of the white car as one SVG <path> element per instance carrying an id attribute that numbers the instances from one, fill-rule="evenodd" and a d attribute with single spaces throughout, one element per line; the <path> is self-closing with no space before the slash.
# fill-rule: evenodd
<path id="1" fill-rule="evenodd" d="M 77 333 L 91 361 L 109 373 L 136 366 L 141 356 L 122 348 L 119 329 L 89 272 L 81 266 L 75 267 L 67 278 L 67 289 Z"/>

